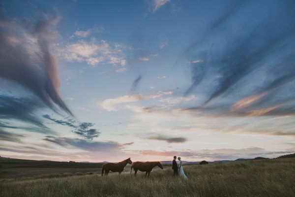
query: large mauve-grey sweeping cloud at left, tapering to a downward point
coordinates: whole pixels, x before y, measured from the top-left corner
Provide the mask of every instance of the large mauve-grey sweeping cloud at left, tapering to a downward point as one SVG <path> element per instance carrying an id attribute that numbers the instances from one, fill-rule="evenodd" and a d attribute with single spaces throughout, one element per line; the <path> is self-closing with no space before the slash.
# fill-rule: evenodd
<path id="1" fill-rule="evenodd" d="M 72 115 L 59 96 L 58 65 L 51 52 L 56 34 L 52 28 L 58 20 L 44 15 L 25 27 L 1 18 L 0 77 L 23 86 L 50 108 L 56 104 Z"/>

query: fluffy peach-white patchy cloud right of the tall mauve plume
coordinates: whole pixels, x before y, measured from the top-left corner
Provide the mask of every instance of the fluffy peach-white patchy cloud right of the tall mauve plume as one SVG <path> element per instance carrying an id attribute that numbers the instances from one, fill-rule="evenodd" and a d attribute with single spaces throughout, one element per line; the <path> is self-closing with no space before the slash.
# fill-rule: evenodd
<path id="1" fill-rule="evenodd" d="M 125 47 L 117 43 L 110 45 L 106 40 L 97 42 L 92 39 L 68 43 L 58 51 L 59 55 L 69 62 L 87 62 L 91 66 L 99 64 L 126 66 L 123 49 Z"/>

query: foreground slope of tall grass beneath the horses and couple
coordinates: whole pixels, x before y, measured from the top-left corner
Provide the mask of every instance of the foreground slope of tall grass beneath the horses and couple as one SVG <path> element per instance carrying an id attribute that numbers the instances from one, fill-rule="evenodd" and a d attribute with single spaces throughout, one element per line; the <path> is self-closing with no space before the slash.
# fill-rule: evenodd
<path id="1" fill-rule="evenodd" d="M 189 180 L 170 167 L 149 178 L 125 171 L 43 174 L 0 179 L 1 197 L 295 197 L 295 159 L 187 165 Z"/>

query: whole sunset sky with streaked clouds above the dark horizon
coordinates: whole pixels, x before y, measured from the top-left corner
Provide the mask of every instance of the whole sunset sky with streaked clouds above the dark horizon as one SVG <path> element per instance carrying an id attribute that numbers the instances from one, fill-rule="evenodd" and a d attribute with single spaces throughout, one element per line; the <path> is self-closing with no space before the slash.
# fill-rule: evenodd
<path id="1" fill-rule="evenodd" d="M 1 0 L 0 156 L 295 152 L 294 0 Z"/>

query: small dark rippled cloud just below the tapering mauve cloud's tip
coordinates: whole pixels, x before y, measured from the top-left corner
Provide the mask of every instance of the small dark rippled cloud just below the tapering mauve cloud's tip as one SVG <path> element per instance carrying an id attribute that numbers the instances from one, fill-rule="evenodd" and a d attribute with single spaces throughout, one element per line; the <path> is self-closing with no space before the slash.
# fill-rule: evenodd
<path id="1" fill-rule="evenodd" d="M 97 129 L 90 129 L 90 127 L 94 126 L 93 123 L 87 123 L 87 122 L 77 123 L 73 119 L 58 120 L 58 119 L 51 118 L 48 114 L 43 115 L 43 118 L 51 120 L 59 125 L 68 126 L 73 129 L 72 132 L 88 140 L 92 140 L 93 138 L 98 137 L 99 134 L 101 133 Z"/>

